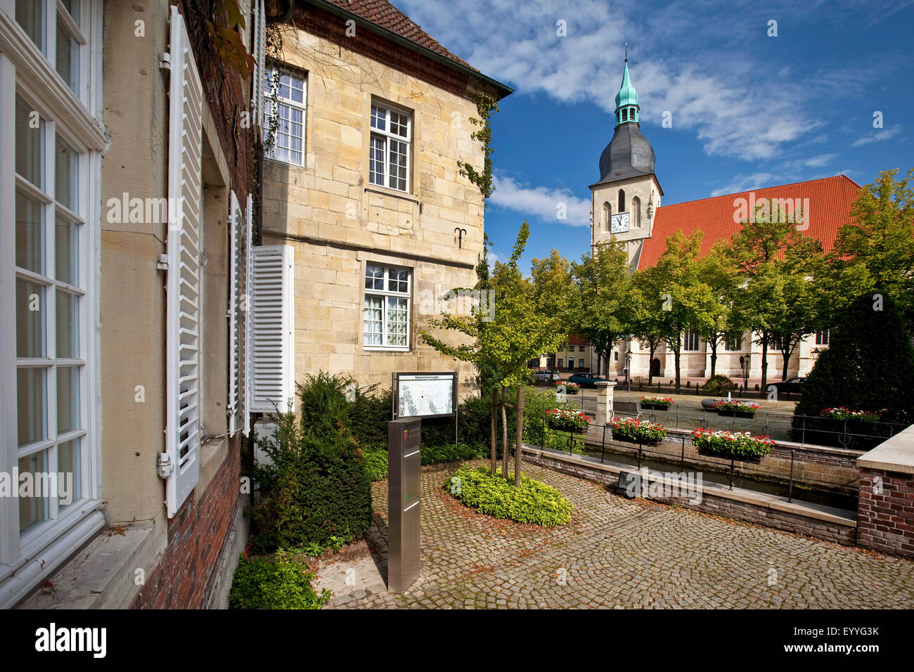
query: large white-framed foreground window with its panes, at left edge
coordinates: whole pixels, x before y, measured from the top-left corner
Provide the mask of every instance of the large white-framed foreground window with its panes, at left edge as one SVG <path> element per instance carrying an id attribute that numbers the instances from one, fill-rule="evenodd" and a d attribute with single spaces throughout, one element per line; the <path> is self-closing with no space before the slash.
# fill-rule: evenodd
<path id="1" fill-rule="evenodd" d="M 19 476 L 0 497 L 0 608 L 104 525 L 92 400 L 105 138 L 90 96 L 102 4 L 4 5 L 0 31 L 24 46 L 0 52 L 0 472 Z"/>

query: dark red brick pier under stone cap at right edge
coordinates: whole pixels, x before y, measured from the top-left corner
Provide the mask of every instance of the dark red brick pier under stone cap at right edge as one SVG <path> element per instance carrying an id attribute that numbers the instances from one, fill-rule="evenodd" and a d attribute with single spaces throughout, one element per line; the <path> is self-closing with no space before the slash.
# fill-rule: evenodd
<path id="1" fill-rule="evenodd" d="M 862 467 L 857 527 L 860 546 L 914 558 L 914 475 Z"/>

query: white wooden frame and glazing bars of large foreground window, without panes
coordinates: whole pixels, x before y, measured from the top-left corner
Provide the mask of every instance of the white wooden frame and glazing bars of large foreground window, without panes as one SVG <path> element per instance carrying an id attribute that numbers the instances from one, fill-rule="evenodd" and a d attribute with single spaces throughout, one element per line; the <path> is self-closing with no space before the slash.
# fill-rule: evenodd
<path id="1" fill-rule="evenodd" d="M 101 126 L 101 22 L 102 3 L 74 0 L 80 8 L 77 27 L 57 0 L 38 0 L 44 10 L 44 40 L 38 47 L 16 22 L 14 0 L 0 0 L 0 311 L 16 315 L 16 277 L 44 285 L 46 357 L 24 360 L 16 355 L 16 320 L 0 323 L 0 397 L 17 400 L 17 368 L 46 368 L 47 431 L 45 439 L 20 449 L 16 403 L 7 403 L 0 421 L 0 471 L 12 474 L 18 459 L 49 450 L 45 470 L 57 472 L 57 446 L 73 438 L 80 441 L 80 499 L 60 510 L 55 498 L 48 502 L 48 519 L 19 531 L 16 497 L 0 497 L 0 608 L 16 603 L 55 571 L 74 548 L 104 527 L 101 511 L 101 396 L 99 322 L 99 263 L 101 231 L 101 154 L 107 141 Z M 69 88 L 56 68 L 58 16 L 80 44 L 76 91 Z M 74 29 L 75 28 L 75 29 Z M 44 120 L 44 186 L 35 188 L 16 177 L 16 127 L 14 107 L 18 93 Z M 55 139 L 67 142 L 78 156 L 78 188 L 73 210 L 56 200 Z M 42 274 L 16 269 L 16 190 L 36 197 L 45 208 Z M 78 269 L 76 284 L 60 282 L 54 272 L 53 243 L 57 215 L 77 222 Z M 69 290 L 79 296 L 78 350 L 66 361 L 56 352 L 55 293 Z M 52 304 L 52 301 L 55 303 Z M 57 434 L 56 367 L 80 368 L 80 428 Z"/>

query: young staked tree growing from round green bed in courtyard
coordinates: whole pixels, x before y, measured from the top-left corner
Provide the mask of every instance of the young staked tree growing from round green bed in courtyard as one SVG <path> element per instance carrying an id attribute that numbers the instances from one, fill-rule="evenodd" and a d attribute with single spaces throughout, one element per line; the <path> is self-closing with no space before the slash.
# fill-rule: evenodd
<path id="1" fill-rule="evenodd" d="M 431 320 L 430 327 L 444 331 L 456 332 L 464 336 L 460 345 L 446 343 L 430 330 L 420 330 L 422 340 L 444 355 L 472 362 L 480 371 L 484 384 L 491 386 L 493 408 L 496 394 L 501 390 L 501 411 L 503 442 L 505 449 L 505 469 L 507 478 L 507 461 L 510 453 L 507 445 L 507 417 L 505 411 L 505 394 L 509 388 L 517 389 L 518 423 L 523 418 L 523 386 L 528 382 L 530 373 L 527 361 L 548 352 L 564 339 L 561 317 L 555 315 L 550 297 L 540 294 L 528 282 L 518 269 L 518 261 L 524 253 L 530 228 L 526 220 L 517 233 L 514 250 L 510 259 L 496 263 L 493 277 L 488 275 L 488 259 L 484 254 L 477 266 L 478 282 L 476 291 L 486 291 L 484 300 L 493 306 L 494 315 L 487 311 L 474 311 L 473 315 L 442 315 Z M 467 290 L 461 290 L 467 291 Z M 468 338 L 467 338 L 468 337 Z M 466 342 L 469 340 L 469 342 Z M 484 392 L 486 390 L 484 389 Z M 495 473 L 495 432 L 493 415 L 493 438 L 491 453 L 491 473 Z M 522 432 L 517 432 L 518 437 Z M 515 485 L 520 485 L 521 451 L 515 449 Z"/>

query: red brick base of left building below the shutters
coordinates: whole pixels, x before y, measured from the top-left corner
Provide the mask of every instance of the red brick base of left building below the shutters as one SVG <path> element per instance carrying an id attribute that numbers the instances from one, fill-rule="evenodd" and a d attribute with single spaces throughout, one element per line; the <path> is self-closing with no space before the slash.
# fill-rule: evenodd
<path id="1" fill-rule="evenodd" d="M 229 543 L 240 496 L 240 436 L 231 440 L 228 457 L 196 501 L 187 498 L 168 521 L 168 545 L 146 577 L 132 609 L 200 609 L 214 589 L 218 560 Z"/>

